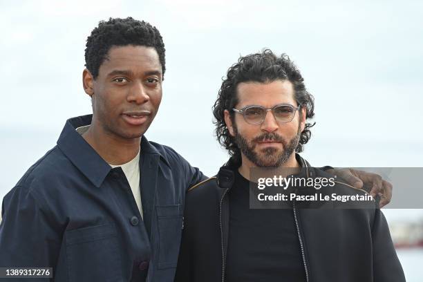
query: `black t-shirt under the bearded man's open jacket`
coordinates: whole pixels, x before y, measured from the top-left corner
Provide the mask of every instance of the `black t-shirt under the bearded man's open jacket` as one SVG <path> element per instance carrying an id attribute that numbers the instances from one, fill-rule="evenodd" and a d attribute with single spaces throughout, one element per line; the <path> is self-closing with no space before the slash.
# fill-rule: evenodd
<path id="1" fill-rule="evenodd" d="M 226 281 L 306 281 L 292 209 L 250 209 L 249 189 L 236 171 L 229 190 Z"/>

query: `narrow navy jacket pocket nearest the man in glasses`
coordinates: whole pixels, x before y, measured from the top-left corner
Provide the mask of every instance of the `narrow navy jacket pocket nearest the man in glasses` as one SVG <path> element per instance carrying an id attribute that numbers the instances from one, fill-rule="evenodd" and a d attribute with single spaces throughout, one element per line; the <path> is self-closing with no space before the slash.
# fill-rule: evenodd
<path id="1" fill-rule="evenodd" d="M 156 206 L 158 215 L 158 269 L 176 267 L 182 234 L 180 205 Z"/>

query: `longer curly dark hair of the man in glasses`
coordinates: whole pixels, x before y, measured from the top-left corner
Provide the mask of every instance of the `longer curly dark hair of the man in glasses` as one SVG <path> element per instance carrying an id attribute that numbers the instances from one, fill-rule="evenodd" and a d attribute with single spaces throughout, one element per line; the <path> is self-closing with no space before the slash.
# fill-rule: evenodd
<path id="1" fill-rule="evenodd" d="M 250 54 L 240 57 L 238 62 L 232 65 L 227 71 L 227 77 L 223 78 L 222 86 L 218 93 L 218 98 L 214 102 L 213 114 L 215 133 L 218 142 L 222 147 L 229 151 L 234 160 L 241 160 L 241 151 L 238 148 L 234 138 L 229 134 L 225 124 L 224 111 L 228 110 L 232 121 L 234 122 L 234 111 L 231 111 L 238 104 L 236 96 L 236 87 L 241 82 L 274 82 L 276 79 L 288 79 L 294 86 L 295 100 L 301 107 L 306 108 L 306 119 L 314 117 L 314 97 L 306 90 L 304 79 L 301 76 L 297 66 L 290 60 L 288 55 L 282 54 L 277 57 L 272 50 L 265 49 L 261 53 Z M 300 111 L 301 113 L 301 111 Z M 310 127 L 314 123 L 306 123 L 306 127 L 301 132 L 300 140 L 295 151 L 303 151 L 303 145 L 310 140 Z"/>

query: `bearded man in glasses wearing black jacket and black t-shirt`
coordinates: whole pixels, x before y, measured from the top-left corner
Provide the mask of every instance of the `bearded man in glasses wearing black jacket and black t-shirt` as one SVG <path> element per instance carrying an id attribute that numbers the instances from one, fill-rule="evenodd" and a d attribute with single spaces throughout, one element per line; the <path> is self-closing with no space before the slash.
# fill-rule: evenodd
<path id="1" fill-rule="evenodd" d="M 338 179 L 321 194 L 367 197 L 359 206 L 366 208 L 296 198 L 288 208 L 252 205 L 256 170 L 331 177 L 299 155 L 310 139 L 314 100 L 288 56 L 264 50 L 241 57 L 227 71 L 214 116 L 231 158 L 187 193 L 176 281 L 405 281 L 384 215 L 364 190 Z M 287 188 L 294 196 L 317 193 L 303 186 Z"/>

